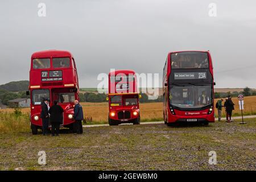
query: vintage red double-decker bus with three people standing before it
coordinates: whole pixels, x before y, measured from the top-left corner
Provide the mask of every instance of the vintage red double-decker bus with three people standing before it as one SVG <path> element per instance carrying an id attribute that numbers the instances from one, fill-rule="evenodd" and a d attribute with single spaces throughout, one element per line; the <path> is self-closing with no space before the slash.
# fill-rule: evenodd
<path id="1" fill-rule="evenodd" d="M 28 94 L 31 97 L 32 134 L 37 134 L 38 129 L 42 129 L 40 112 L 42 101 L 45 99 L 50 101 L 50 106 L 53 101 L 59 101 L 64 110 L 60 126 L 72 128 L 73 102 L 79 100 L 79 79 L 72 54 L 57 50 L 33 53 Z"/>

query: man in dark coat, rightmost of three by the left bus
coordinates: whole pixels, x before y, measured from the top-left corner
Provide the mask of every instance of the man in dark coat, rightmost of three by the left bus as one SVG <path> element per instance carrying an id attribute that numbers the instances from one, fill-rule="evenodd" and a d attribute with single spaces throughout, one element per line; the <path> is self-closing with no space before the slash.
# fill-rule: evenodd
<path id="1" fill-rule="evenodd" d="M 84 113 L 82 112 L 82 106 L 79 104 L 79 101 L 74 101 L 74 115 L 75 123 L 73 128 L 77 134 L 82 134 L 82 120 L 84 120 Z"/>

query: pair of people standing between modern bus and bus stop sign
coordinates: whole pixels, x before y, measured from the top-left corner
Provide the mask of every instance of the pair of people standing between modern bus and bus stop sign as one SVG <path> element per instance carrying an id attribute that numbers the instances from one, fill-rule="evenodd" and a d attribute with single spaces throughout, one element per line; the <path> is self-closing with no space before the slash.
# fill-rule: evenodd
<path id="1" fill-rule="evenodd" d="M 222 98 L 216 102 L 216 108 L 218 110 L 218 121 L 221 121 L 222 107 L 224 107 L 226 111 L 226 122 L 232 122 L 231 116 L 232 111 L 234 110 L 234 103 L 232 101 L 232 97 L 228 96 L 228 98 L 225 99 L 224 105 L 222 105 L 222 102 Z"/>

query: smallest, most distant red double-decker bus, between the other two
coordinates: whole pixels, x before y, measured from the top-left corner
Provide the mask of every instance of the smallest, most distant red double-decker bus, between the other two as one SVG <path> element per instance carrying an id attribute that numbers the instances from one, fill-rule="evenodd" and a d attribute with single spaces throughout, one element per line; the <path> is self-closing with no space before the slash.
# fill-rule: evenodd
<path id="1" fill-rule="evenodd" d="M 118 70 L 109 73 L 109 125 L 141 121 L 137 77 L 134 71 Z"/>

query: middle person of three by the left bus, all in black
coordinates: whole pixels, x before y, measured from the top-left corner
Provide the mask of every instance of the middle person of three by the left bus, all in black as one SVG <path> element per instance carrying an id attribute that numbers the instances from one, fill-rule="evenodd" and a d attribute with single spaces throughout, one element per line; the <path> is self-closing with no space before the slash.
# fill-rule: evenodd
<path id="1" fill-rule="evenodd" d="M 64 110 L 58 105 L 58 101 L 54 101 L 54 105 L 49 109 L 52 137 L 55 136 L 55 134 L 56 136 L 59 136 L 60 123 L 63 120 L 63 112 Z"/>

